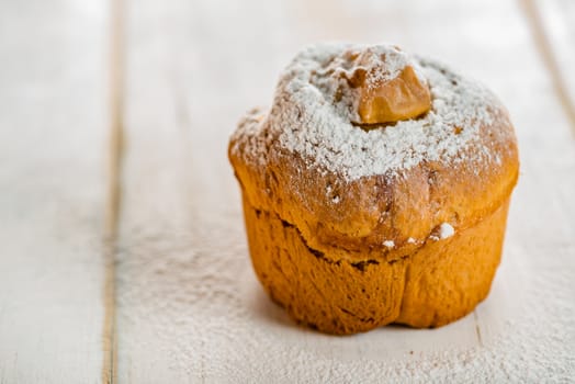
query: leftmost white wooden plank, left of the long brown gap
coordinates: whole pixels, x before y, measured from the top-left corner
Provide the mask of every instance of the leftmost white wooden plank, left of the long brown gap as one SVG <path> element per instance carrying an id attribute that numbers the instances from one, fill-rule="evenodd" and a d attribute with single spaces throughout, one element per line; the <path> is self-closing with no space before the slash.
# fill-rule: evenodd
<path id="1" fill-rule="evenodd" d="M 104 374 L 106 12 L 1 5 L 1 383 Z"/>

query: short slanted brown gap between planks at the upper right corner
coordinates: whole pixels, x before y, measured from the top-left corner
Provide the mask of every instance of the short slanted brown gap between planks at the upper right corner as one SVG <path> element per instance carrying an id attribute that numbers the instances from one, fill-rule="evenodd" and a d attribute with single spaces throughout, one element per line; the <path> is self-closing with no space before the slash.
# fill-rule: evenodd
<path id="1" fill-rule="evenodd" d="M 553 88 L 555 89 L 555 93 L 561 102 L 561 106 L 567 115 L 571 133 L 575 138 L 575 101 L 571 98 L 565 86 L 566 81 L 563 78 L 557 59 L 553 54 L 553 48 L 551 47 L 551 42 L 545 32 L 545 26 L 541 19 L 539 8 L 535 0 L 520 0 L 519 2 L 522 5 L 521 8 L 523 9 L 527 19 L 528 29 L 531 31 L 537 50 L 541 55 L 543 64 L 549 69 Z"/>

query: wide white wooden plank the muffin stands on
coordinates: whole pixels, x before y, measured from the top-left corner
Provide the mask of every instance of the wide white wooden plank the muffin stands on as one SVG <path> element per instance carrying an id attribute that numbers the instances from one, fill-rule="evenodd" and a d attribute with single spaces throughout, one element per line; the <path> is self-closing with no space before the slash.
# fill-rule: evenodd
<path id="1" fill-rule="evenodd" d="M 575 147 L 515 2 L 138 1 L 128 24 L 120 381 L 573 374 L 575 342 L 561 340 L 575 335 L 566 283 L 575 272 L 575 205 L 566 199 L 575 192 Z M 523 173 L 503 264 L 474 315 L 436 330 L 334 338 L 293 326 L 256 282 L 227 137 L 243 111 L 270 101 L 278 72 L 303 44 L 382 37 L 484 79 L 509 106 Z"/>

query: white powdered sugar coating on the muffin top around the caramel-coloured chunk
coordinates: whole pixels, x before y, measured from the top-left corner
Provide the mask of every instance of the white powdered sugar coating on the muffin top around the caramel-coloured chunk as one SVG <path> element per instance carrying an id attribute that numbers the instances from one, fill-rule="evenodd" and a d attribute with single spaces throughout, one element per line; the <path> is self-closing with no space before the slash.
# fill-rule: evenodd
<path id="1" fill-rule="evenodd" d="M 359 98 L 342 81 L 351 76 L 349 60 L 369 64 L 374 55 L 384 57 L 386 69 L 370 71 L 373 68 L 365 65 L 368 75 L 374 74 L 372 81 L 393 78 L 410 65 L 429 84 L 432 106 L 425 116 L 369 131 L 353 124 Z M 304 49 L 288 66 L 267 118 L 245 121 L 235 135 L 259 135 L 248 148 L 258 160 L 266 157 L 269 140 L 279 139 L 281 147 L 301 155 L 309 167 L 353 181 L 395 176 L 422 161 L 491 160 L 480 129 L 493 123 L 496 103 L 486 88 L 397 48 L 323 44 Z"/>

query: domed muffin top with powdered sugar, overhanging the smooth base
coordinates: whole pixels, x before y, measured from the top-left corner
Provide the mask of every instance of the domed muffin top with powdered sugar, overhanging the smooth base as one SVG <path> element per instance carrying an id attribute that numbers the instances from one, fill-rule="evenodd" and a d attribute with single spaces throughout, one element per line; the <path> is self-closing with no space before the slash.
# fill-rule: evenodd
<path id="1" fill-rule="evenodd" d="M 386 94 L 406 68 L 415 86 Z M 382 92 L 375 105 L 385 113 L 365 113 L 365 98 Z M 514 129 L 491 91 L 387 45 L 305 48 L 281 75 L 271 110 L 240 122 L 229 157 L 250 203 L 316 249 L 386 258 L 475 224 L 518 173 Z"/>

